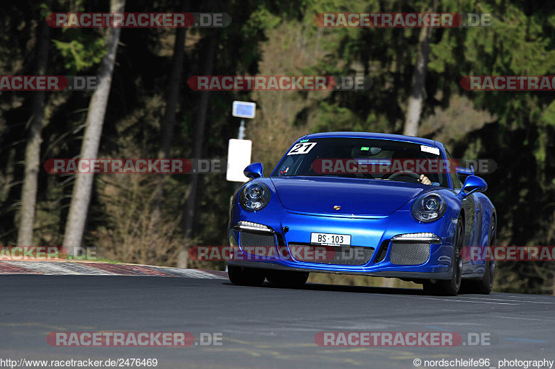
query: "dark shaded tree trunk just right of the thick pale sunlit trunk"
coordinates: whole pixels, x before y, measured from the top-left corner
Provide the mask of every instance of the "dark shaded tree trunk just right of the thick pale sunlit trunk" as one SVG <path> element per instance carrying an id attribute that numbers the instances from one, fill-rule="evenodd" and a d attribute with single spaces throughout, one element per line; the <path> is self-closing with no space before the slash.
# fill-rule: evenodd
<path id="1" fill-rule="evenodd" d="M 187 3 L 188 1 L 181 3 L 180 12 L 187 12 Z M 183 71 L 186 34 L 187 28 L 176 28 L 176 41 L 175 44 L 173 44 L 173 59 L 171 61 L 171 71 L 166 96 L 166 111 L 162 119 L 162 140 L 160 142 L 160 150 L 158 151 L 158 158 L 160 159 L 168 158 L 171 151 L 173 127 L 176 125 L 176 110 L 178 107 L 179 87 Z M 162 199 L 164 198 L 164 185 L 166 184 L 167 174 L 160 174 L 159 179 L 160 181 L 157 183 L 155 190 L 156 195 L 152 214 L 154 224 L 157 224 L 160 220 L 160 215 L 162 213 Z"/>

